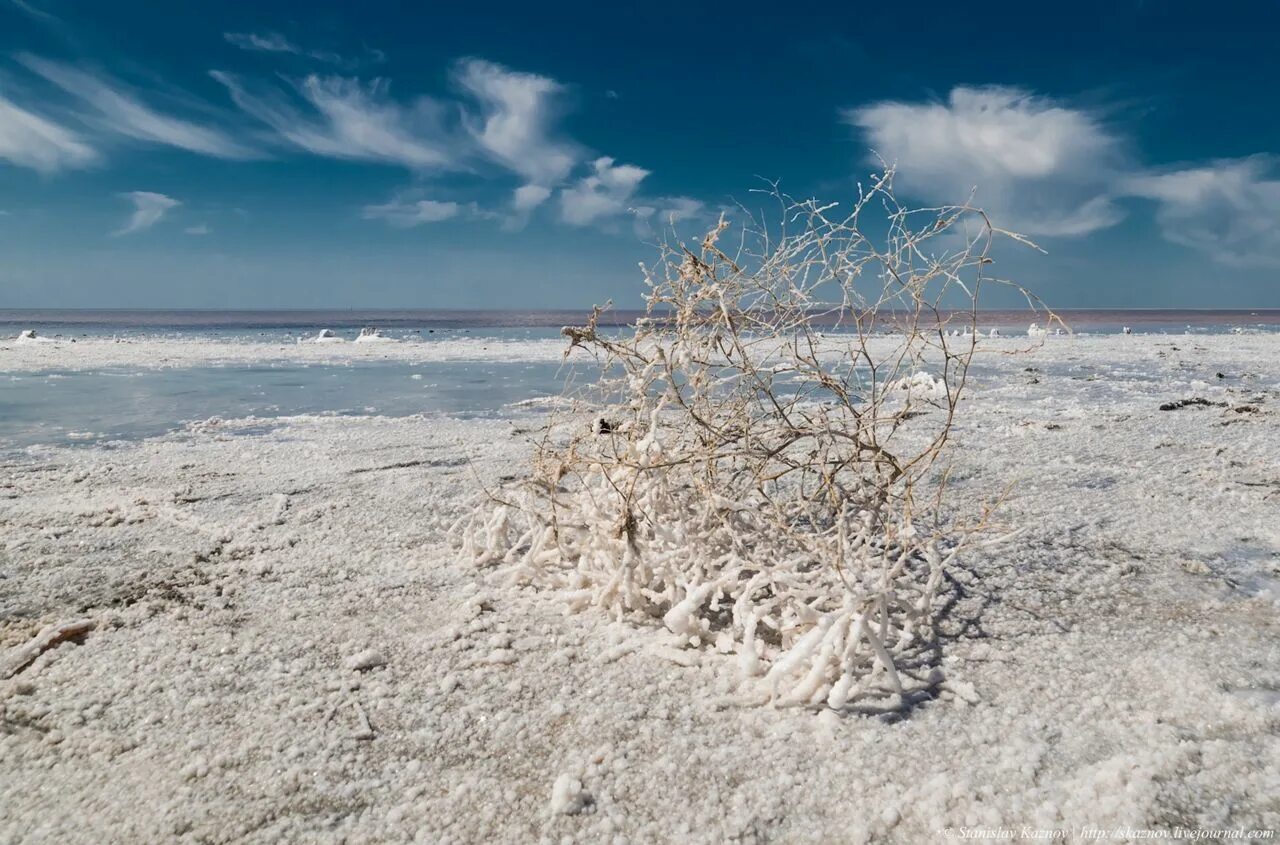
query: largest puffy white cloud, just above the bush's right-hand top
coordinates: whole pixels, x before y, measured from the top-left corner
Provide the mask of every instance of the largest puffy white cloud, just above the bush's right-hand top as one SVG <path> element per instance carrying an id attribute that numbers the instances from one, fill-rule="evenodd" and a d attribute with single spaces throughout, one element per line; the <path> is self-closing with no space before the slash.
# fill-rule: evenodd
<path id="1" fill-rule="evenodd" d="M 877 102 L 845 111 L 899 165 L 897 187 L 928 202 L 975 205 L 996 225 L 1075 237 L 1117 223 L 1123 143 L 1093 114 L 1020 88 L 957 87 L 946 102 Z"/>

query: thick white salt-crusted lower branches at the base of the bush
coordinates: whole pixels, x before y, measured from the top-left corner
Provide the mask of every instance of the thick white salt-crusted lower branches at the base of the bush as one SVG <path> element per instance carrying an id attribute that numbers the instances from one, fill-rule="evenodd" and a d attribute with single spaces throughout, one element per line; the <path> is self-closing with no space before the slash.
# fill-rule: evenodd
<path id="1" fill-rule="evenodd" d="M 562 513 L 581 517 L 575 520 L 580 526 L 620 521 L 618 513 L 600 508 L 612 483 L 596 481 L 558 499 Z M 933 599 L 957 549 L 943 553 L 923 540 L 886 548 L 867 535 L 872 521 L 855 516 L 854 527 L 837 531 L 846 547 L 845 572 L 863 583 L 851 593 L 835 567 L 814 565 L 833 554 L 820 543 L 795 545 L 785 534 L 754 533 L 736 521 L 712 524 L 708 534 L 695 502 L 652 479 L 639 480 L 634 490 L 660 524 L 637 530 L 631 542 L 568 521 L 553 530 L 539 516 L 547 512 L 541 489 L 504 490 L 504 504 L 495 511 L 456 525 L 465 557 L 497 567 L 497 577 L 508 584 L 559 590 L 570 611 L 598 608 L 618 620 L 660 621 L 671 645 L 654 643 L 645 654 L 681 666 L 713 658 L 710 652 L 736 654 L 740 693 L 751 700 L 764 690 L 762 700 L 774 705 L 846 711 L 900 709 L 922 694 L 932 696 L 940 679 L 906 677 L 897 661 L 918 663 L 932 641 Z M 751 512 L 723 497 L 714 507 Z M 895 533 L 911 530 L 899 526 Z M 751 536 L 754 548 L 698 553 L 728 543 L 730 535 Z"/>

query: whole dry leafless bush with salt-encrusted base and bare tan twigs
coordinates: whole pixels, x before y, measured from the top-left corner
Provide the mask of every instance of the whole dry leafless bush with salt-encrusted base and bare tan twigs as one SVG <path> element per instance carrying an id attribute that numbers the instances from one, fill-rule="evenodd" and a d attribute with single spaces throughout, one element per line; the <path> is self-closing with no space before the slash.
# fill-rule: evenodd
<path id="1" fill-rule="evenodd" d="M 732 255 L 722 218 L 645 270 L 634 330 L 599 310 L 566 328 L 602 380 L 458 525 L 463 554 L 736 653 L 780 704 L 899 707 L 936 684 L 904 658 L 980 527 L 941 522 L 937 462 L 1009 233 L 969 206 L 906 210 L 892 177 L 846 211 L 782 198 L 782 230 L 751 221 Z"/>

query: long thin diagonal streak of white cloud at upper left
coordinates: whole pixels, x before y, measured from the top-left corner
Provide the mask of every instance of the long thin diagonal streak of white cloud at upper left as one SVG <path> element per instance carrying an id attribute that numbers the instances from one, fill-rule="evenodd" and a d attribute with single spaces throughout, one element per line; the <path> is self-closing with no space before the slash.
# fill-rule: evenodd
<path id="1" fill-rule="evenodd" d="M 255 157 L 252 150 L 218 129 L 164 115 L 143 105 L 119 83 L 102 81 L 70 65 L 38 56 L 20 55 L 18 60 L 92 106 L 99 122 L 111 132 L 219 159 Z"/>

